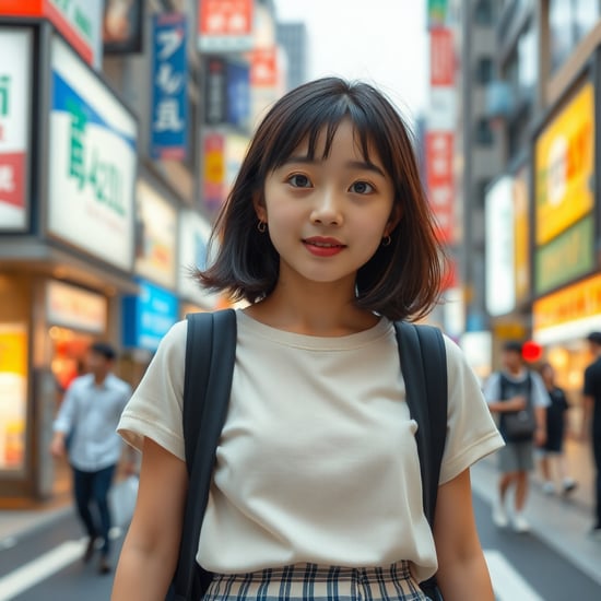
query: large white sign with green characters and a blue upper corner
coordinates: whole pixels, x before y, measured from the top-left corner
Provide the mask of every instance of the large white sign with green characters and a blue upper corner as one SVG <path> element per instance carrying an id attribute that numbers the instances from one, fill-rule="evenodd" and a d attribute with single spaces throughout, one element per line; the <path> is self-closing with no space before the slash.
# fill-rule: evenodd
<path id="1" fill-rule="evenodd" d="M 51 74 L 48 229 L 129 271 L 138 123 L 58 37 Z"/>

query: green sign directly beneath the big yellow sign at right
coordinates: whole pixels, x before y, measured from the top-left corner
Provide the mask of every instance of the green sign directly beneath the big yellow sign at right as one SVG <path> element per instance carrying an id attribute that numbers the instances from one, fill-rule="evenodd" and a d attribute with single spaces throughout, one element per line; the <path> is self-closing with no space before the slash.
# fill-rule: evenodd
<path id="1" fill-rule="evenodd" d="M 534 293 L 544 294 L 594 267 L 594 224 L 592 215 L 566 229 L 535 255 Z"/>

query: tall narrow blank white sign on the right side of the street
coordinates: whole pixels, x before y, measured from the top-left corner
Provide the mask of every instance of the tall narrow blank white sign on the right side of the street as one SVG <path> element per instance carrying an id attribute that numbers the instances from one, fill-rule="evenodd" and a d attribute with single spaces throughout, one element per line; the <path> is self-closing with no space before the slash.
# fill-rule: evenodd
<path id="1" fill-rule="evenodd" d="M 506 315 L 516 306 L 514 195 L 509 176 L 486 193 L 486 309 Z"/>

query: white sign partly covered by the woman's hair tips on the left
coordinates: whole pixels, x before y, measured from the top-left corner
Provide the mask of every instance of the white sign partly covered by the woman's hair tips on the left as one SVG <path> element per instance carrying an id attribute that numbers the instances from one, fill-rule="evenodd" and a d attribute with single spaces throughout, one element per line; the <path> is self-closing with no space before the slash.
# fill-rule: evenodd
<path id="1" fill-rule="evenodd" d="M 186 210 L 180 213 L 178 292 L 203 308 L 216 307 L 217 295 L 203 291 L 192 279 L 195 268 L 205 269 L 211 226 L 199 213 Z"/>

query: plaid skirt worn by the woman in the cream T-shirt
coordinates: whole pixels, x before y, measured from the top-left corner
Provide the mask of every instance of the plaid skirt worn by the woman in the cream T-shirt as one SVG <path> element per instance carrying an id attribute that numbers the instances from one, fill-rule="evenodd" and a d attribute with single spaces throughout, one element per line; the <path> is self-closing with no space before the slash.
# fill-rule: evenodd
<path id="1" fill-rule="evenodd" d="M 425 601 L 408 562 L 350 568 L 295 564 L 249 574 L 215 574 L 203 601 Z"/>

